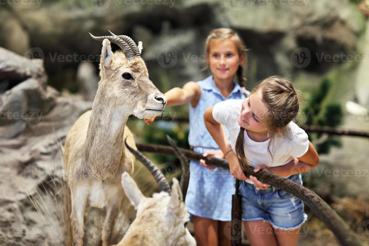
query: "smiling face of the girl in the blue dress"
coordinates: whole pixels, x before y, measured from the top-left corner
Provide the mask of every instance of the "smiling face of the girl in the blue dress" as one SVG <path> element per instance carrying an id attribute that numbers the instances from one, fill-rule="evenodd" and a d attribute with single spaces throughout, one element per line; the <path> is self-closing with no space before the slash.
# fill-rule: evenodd
<path id="1" fill-rule="evenodd" d="M 245 59 L 240 58 L 236 42 L 227 38 L 210 43 L 206 60 L 215 80 L 233 80 L 238 66 L 244 63 Z"/>

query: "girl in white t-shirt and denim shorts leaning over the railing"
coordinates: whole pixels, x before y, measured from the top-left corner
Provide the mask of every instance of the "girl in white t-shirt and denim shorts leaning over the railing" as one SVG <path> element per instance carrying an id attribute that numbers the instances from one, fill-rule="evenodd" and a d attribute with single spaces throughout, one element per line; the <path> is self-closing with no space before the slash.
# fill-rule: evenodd
<path id="1" fill-rule="evenodd" d="M 300 98 L 288 79 L 272 76 L 245 100 L 222 101 L 204 113 L 205 125 L 225 154 L 231 174 L 244 180 L 239 182 L 242 223 L 251 245 L 297 245 L 307 219 L 299 198 L 243 172 L 251 165 L 254 172 L 265 170 L 302 184 L 300 173 L 318 165 L 306 132 L 292 121 Z M 221 125 L 228 129 L 230 142 Z"/>

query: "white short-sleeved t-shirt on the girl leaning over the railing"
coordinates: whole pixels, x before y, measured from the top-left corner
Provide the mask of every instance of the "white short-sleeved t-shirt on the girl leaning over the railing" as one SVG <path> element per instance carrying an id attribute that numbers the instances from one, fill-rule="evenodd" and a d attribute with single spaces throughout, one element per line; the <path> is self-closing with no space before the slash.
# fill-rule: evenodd
<path id="1" fill-rule="evenodd" d="M 237 118 L 241 113 L 242 101 L 226 100 L 215 104 L 213 108 L 213 118 L 215 121 L 228 129 L 233 151 L 236 149 L 236 140 L 240 131 Z M 254 167 L 262 164 L 266 167 L 276 167 L 289 163 L 293 157 L 299 158 L 303 156 L 309 148 L 309 140 L 306 132 L 293 121 L 287 127 L 289 128 L 287 133 L 288 138 L 277 137 L 274 145 L 270 145 L 270 152 L 272 152 L 274 157 L 273 163 L 272 157 L 268 152 L 268 142 L 270 139 L 264 142 L 255 142 L 248 137 L 247 131 L 245 130 L 244 149 L 248 162 Z"/>

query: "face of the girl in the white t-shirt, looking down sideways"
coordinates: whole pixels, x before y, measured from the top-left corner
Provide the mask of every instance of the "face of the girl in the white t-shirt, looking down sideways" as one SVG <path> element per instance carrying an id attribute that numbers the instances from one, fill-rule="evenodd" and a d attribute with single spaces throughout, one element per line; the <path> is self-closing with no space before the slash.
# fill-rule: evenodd
<path id="1" fill-rule="evenodd" d="M 238 124 L 253 132 L 268 131 L 266 124 L 266 104 L 262 101 L 261 91 L 255 91 L 242 102 L 241 114 L 238 115 Z"/>

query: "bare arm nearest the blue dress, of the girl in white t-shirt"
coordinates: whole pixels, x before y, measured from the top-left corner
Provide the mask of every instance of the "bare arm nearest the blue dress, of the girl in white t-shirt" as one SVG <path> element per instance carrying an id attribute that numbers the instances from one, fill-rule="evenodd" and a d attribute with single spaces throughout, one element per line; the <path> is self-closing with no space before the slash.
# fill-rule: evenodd
<path id="1" fill-rule="evenodd" d="M 213 137 L 219 148 L 222 150 L 223 154 L 227 154 L 225 156 L 225 159 L 230 165 L 231 174 L 239 180 L 246 180 L 248 178 L 242 172 L 237 156 L 231 148 L 231 145 L 227 138 L 227 134 L 225 134 L 223 125 L 219 124 L 213 118 L 213 108 L 214 106 L 208 108 L 204 113 L 204 122 L 206 128 L 208 129 L 210 135 Z M 228 151 L 229 153 L 227 153 Z"/>

